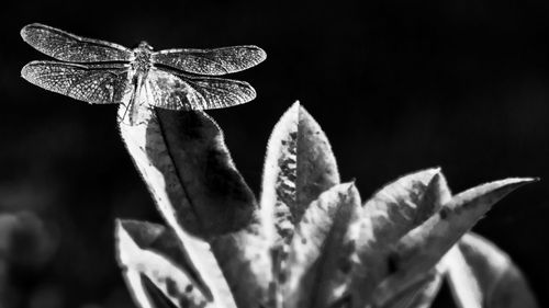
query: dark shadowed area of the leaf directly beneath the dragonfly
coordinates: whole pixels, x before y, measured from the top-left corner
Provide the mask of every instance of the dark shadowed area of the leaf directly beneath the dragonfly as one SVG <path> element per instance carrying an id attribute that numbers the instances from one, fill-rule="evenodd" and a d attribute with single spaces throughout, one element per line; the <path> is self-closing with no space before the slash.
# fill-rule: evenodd
<path id="1" fill-rule="evenodd" d="M 235 231 L 247 226 L 257 208 L 250 189 L 236 170 L 225 147 L 217 124 L 203 112 L 172 112 L 156 110 L 159 127 L 148 125 L 146 152 L 152 166 L 164 170 L 160 156 L 172 161 L 177 180 L 187 199 L 170 199 L 180 223 L 182 216 L 193 215 L 199 226 L 183 227 L 201 236 Z M 166 152 L 155 148 L 158 138 Z M 166 159 L 165 157 L 160 157 Z M 146 179 L 145 179 L 146 180 Z M 168 191 L 172 183 L 167 183 Z M 180 210 L 188 203 L 191 212 Z"/>

